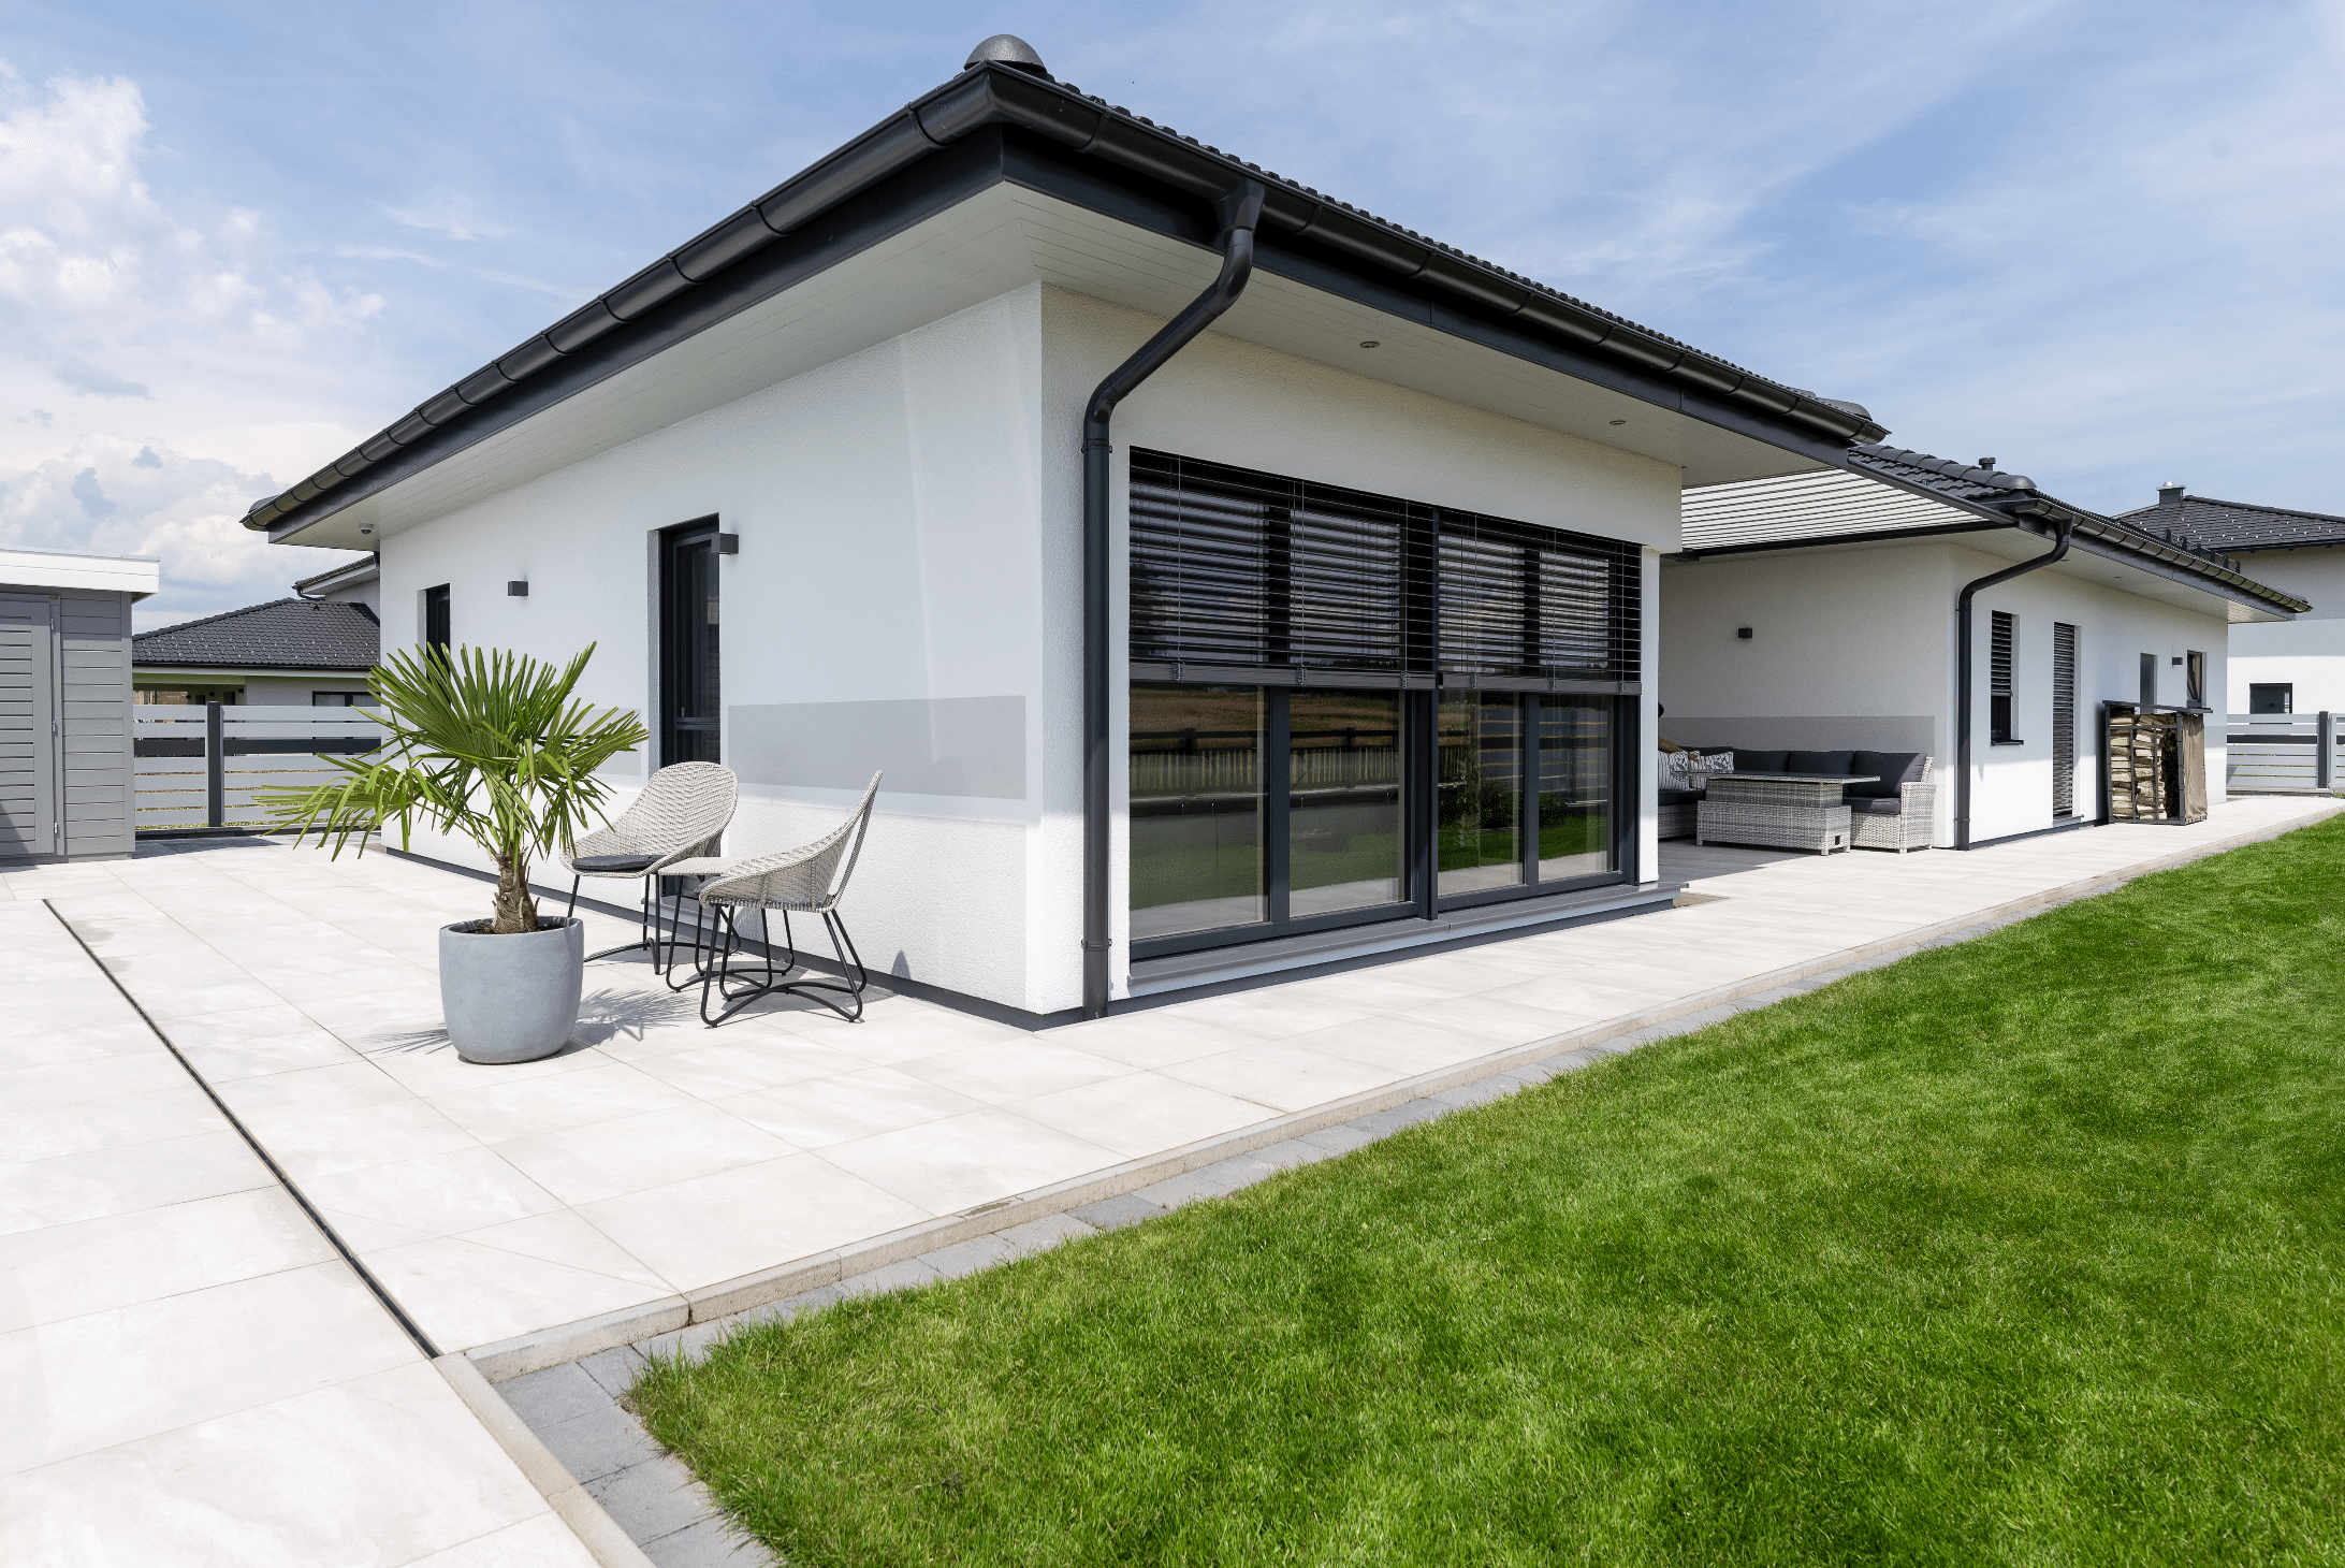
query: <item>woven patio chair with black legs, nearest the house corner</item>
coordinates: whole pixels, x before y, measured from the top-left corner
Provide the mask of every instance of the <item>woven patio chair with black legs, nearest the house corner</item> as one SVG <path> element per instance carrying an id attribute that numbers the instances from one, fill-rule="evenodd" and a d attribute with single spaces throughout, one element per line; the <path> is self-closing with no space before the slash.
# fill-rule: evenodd
<path id="1" fill-rule="evenodd" d="M 821 1002 L 849 1023 L 863 1019 L 863 991 L 870 986 L 870 974 L 863 969 L 856 939 L 847 934 L 847 920 L 840 918 L 840 897 L 847 892 L 847 878 L 856 873 L 856 859 L 863 854 L 863 836 L 872 819 L 872 800 L 877 798 L 879 775 L 875 772 L 872 782 L 863 789 L 863 800 L 847 815 L 847 822 L 811 845 L 708 866 L 711 880 L 701 885 L 699 901 L 701 908 L 715 915 L 718 930 L 711 941 L 711 955 L 699 969 L 701 1023 L 715 1028 L 757 998 L 776 991 Z M 699 869 L 701 864 L 687 866 L 687 871 Z M 743 908 L 757 911 L 760 934 L 764 937 L 764 965 L 755 969 L 736 969 L 732 962 L 741 948 L 734 922 Z M 774 958 L 772 918 L 776 908 L 781 911 L 783 941 L 779 962 Z M 830 932 L 830 951 L 840 960 L 840 981 L 844 984 L 786 979 L 797 969 L 797 934 L 790 930 L 793 913 L 823 918 L 823 930 Z M 830 995 L 821 993 L 844 995 L 849 1005 L 832 1002 Z M 711 998 L 722 1002 L 715 1016 L 708 1016 Z"/>

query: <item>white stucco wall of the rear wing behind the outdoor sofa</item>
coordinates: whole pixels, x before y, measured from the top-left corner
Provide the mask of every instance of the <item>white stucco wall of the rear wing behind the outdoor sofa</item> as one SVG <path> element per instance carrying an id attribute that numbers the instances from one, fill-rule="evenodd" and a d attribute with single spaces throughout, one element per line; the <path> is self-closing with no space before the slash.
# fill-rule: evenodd
<path id="1" fill-rule="evenodd" d="M 2010 566 L 1960 545 L 1824 549 L 1670 563 L 1660 587 L 1660 732 L 1677 742 L 1916 751 L 1937 758 L 1937 843 L 1953 843 L 1953 606 L 1963 584 Z M 2103 568 L 2106 570 L 2106 568 Z M 2012 671 L 2019 744 L 1989 744 L 1993 613 L 2017 617 Z M 2099 793 L 2099 702 L 2141 692 L 2139 657 L 2157 655 L 2160 702 L 2183 702 L 2171 660 L 2207 655 L 2223 690 L 2225 622 L 2115 584 L 2047 568 L 1974 599 L 1972 840 L 2028 833 L 2052 817 L 2052 622 L 2078 627 L 2075 812 Z M 1735 636 L 1752 627 L 1752 638 Z M 2223 725 L 2207 730 L 2207 777 L 2221 791 Z"/>

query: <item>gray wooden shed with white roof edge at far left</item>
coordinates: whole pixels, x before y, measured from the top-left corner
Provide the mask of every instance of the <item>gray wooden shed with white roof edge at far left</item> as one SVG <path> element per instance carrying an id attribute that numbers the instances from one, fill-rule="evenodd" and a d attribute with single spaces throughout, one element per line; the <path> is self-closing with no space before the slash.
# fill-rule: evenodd
<path id="1" fill-rule="evenodd" d="M 0 861 L 131 852 L 131 606 L 150 556 L 0 549 Z"/>

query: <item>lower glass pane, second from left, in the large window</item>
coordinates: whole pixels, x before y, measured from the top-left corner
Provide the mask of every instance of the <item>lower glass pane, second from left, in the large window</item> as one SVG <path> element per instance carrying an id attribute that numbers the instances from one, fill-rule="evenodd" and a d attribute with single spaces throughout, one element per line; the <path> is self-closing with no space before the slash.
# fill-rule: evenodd
<path id="1" fill-rule="evenodd" d="M 1400 692 L 1287 697 L 1287 915 L 1398 904 Z"/>

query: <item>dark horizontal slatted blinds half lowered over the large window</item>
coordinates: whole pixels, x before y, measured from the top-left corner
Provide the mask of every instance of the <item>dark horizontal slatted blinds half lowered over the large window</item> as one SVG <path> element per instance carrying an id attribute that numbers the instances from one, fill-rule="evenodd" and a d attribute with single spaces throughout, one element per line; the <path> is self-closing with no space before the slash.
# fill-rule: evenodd
<path id="1" fill-rule="evenodd" d="M 1135 662 L 1637 678 L 1637 549 L 1133 453 Z"/>

